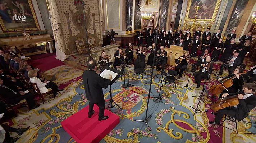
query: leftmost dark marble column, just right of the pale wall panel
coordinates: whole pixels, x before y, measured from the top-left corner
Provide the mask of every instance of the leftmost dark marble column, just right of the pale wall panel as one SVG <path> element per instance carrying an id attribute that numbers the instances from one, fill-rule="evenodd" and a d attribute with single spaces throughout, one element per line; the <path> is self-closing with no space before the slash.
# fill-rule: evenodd
<path id="1" fill-rule="evenodd" d="M 126 5 L 125 5 L 126 31 L 132 31 L 132 2 L 133 0 L 126 0 Z"/>

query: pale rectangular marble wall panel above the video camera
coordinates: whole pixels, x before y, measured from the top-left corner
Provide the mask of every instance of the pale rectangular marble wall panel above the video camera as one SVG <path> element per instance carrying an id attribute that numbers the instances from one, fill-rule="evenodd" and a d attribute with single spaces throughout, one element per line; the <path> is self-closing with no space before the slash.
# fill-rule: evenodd
<path id="1" fill-rule="evenodd" d="M 107 25 L 110 28 L 120 28 L 120 0 L 106 0 Z"/>

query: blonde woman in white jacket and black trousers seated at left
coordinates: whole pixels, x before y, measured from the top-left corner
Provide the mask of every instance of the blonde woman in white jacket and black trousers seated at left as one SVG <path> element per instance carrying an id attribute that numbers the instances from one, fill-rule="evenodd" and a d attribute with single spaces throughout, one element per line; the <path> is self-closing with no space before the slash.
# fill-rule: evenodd
<path id="1" fill-rule="evenodd" d="M 63 90 L 63 89 L 59 89 L 54 82 L 48 81 L 48 80 L 44 80 L 44 82 L 42 82 L 36 76 L 37 76 L 37 70 L 32 69 L 28 71 L 28 77 L 30 78 L 30 82 L 36 83 L 41 93 L 46 93 L 48 92 L 48 88 L 51 88 L 54 97 L 56 97 L 56 95 L 58 94 L 58 91 Z"/>

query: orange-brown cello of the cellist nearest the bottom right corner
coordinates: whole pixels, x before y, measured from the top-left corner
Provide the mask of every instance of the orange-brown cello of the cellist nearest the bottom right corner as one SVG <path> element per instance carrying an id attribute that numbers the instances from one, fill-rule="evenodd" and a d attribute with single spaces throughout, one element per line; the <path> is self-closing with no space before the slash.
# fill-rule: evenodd
<path id="1" fill-rule="evenodd" d="M 243 95 L 247 95 L 247 94 L 255 94 L 255 92 L 254 93 L 245 93 Z M 234 95 L 234 96 L 230 96 L 230 97 L 223 97 L 223 98 L 215 101 L 214 103 L 212 103 L 211 104 L 211 109 L 214 112 L 217 112 L 220 109 L 235 106 L 235 105 L 238 105 L 238 104 L 239 104 L 238 95 Z"/>

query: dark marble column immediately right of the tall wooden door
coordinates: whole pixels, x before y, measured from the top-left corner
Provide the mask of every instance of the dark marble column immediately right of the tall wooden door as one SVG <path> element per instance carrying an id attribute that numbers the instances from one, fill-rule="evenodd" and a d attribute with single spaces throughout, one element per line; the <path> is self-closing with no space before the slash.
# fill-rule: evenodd
<path id="1" fill-rule="evenodd" d="M 162 29 L 162 27 L 166 28 L 168 7 L 169 7 L 169 0 L 162 0 L 162 3 L 160 5 L 161 12 L 160 12 L 160 28 L 159 29 Z"/>

